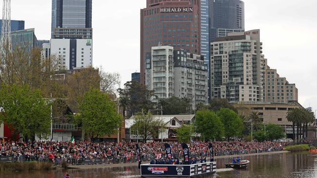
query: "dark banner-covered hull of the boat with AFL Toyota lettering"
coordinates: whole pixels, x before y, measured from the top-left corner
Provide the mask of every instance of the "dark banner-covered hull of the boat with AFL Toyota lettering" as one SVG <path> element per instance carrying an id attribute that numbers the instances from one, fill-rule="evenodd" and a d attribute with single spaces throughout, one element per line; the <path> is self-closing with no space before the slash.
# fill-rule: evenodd
<path id="1" fill-rule="evenodd" d="M 190 165 L 141 164 L 142 178 L 197 178 L 216 173 L 216 162 Z"/>

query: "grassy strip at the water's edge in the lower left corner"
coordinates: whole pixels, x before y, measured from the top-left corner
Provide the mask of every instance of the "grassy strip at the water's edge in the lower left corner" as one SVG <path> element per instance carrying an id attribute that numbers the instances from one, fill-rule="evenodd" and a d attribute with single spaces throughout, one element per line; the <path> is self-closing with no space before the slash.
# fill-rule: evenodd
<path id="1" fill-rule="evenodd" d="M 53 169 L 49 162 L 12 162 L 1 163 L 0 172 L 47 171 Z"/>

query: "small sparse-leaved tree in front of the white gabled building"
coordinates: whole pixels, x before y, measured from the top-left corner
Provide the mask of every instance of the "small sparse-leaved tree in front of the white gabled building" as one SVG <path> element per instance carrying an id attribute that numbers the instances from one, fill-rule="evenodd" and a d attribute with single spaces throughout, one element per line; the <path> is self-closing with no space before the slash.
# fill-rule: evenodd
<path id="1" fill-rule="evenodd" d="M 138 113 L 134 115 L 134 122 L 131 130 L 134 130 L 139 136 L 143 138 L 143 142 L 149 139 L 158 137 L 158 134 L 163 131 L 163 121 L 154 118 L 151 113 L 143 115 Z"/>

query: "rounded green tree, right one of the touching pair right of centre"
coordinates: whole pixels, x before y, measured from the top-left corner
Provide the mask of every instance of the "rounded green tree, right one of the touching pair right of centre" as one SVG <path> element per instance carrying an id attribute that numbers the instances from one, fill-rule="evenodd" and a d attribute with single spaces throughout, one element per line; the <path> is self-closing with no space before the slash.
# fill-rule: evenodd
<path id="1" fill-rule="evenodd" d="M 224 125 L 224 136 L 229 140 L 230 137 L 240 136 L 243 130 L 243 122 L 238 114 L 228 108 L 221 108 L 217 112 L 218 117 Z"/>

